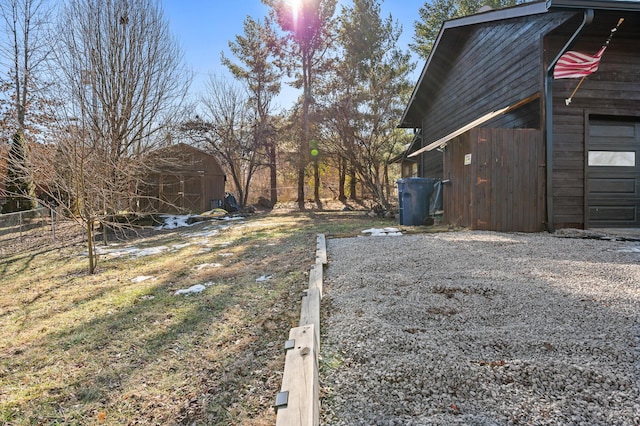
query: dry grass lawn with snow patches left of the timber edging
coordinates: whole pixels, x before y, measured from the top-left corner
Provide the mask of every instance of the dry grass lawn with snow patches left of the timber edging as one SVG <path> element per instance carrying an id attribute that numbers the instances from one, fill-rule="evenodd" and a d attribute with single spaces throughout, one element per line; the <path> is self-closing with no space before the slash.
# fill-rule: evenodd
<path id="1" fill-rule="evenodd" d="M 55 241 L 0 237 L 0 424 L 273 424 L 316 234 L 394 223 L 283 210 L 207 221 L 115 242 L 94 275 L 70 225 Z"/>

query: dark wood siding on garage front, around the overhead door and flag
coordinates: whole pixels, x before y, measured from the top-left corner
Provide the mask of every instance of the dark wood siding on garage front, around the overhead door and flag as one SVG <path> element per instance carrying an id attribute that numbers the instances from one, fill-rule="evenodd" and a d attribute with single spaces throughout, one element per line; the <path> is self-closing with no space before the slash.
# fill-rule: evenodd
<path id="1" fill-rule="evenodd" d="M 595 53 L 621 14 L 598 12 L 571 50 Z M 640 17 L 626 14 L 596 73 L 587 77 L 566 105 L 579 79 L 553 83 L 553 221 L 557 228 L 586 226 L 585 129 L 590 114 L 640 116 Z M 556 55 L 575 23 L 562 26 L 546 40 L 548 57 Z"/>

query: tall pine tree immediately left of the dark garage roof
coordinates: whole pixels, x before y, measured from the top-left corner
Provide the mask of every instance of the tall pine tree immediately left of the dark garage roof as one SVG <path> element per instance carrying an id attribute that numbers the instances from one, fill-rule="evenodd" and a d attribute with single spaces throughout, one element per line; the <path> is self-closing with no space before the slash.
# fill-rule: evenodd
<path id="1" fill-rule="evenodd" d="M 326 124 L 340 156 L 388 208 L 386 164 L 404 142 L 395 125 L 411 92 L 414 64 L 397 48 L 402 28 L 381 16 L 379 0 L 354 0 L 342 8 L 339 23 L 340 57 L 324 90 Z"/>

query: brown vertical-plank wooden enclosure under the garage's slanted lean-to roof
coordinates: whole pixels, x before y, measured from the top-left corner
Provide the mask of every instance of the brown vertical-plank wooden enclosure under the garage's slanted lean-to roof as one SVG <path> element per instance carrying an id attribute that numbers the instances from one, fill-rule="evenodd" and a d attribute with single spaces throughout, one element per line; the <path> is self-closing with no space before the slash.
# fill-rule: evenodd
<path id="1" fill-rule="evenodd" d="M 450 141 L 445 220 L 478 230 L 544 230 L 544 156 L 538 129 L 473 129 Z"/>

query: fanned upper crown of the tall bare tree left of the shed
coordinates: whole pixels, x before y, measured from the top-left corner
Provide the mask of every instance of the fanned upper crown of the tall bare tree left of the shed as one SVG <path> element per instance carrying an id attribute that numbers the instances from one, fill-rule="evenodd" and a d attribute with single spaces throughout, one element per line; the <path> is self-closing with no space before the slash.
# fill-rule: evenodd
<path id="1" fill-rule="evenodd" d="M 148 150 L 188 83 L 158 1 L 71 0 L 61 25 L 60 69 L 108 158 Z"/>

